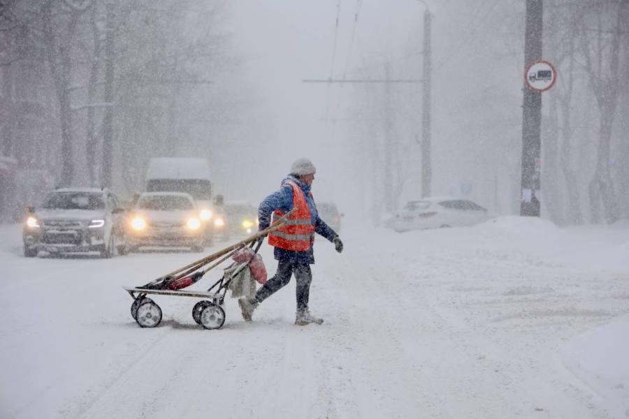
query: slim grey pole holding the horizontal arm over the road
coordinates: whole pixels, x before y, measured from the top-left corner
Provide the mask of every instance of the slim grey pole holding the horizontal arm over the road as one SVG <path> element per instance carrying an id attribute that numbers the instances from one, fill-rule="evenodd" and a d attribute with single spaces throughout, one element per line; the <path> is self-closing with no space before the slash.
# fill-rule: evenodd
<path id="1" fill-rule="evenodd" d="M 424 12 L 424 110 L 421 118 L 421 197 L 431 196 L 431 13 Z"/>

